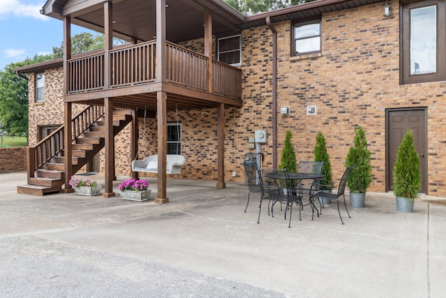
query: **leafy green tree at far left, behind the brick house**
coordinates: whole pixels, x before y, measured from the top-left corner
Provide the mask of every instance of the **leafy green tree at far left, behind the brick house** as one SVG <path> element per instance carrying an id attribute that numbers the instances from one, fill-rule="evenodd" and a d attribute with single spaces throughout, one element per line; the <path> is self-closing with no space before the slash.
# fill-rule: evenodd
<path id="1" fill-rule="evenodd" d="M 28 80 L 19 77 L 13 68 L 52 59 L 52 55 L 36 55 L 0 70 L 0 122 L 6 134 L 28 138 Z"/>

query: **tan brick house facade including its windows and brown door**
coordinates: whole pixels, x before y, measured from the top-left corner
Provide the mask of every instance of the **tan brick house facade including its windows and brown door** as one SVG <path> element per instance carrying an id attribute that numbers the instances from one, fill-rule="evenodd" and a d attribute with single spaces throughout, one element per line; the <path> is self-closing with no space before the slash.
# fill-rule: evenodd
<path id="1" fill-rule="evenodd" d="M 44 8 L 56 2 L 67 1 L 48 1 Z M 344 172 L 354 128 L 360 125 L 372 152 L 374 179 L 369 191 L 390 191 L 394 154 L 406 129 L 411 128 L 422 161 L 422 191 L 446 195 L 444 0 L 320 0 L 251 16 L 238 14 L 217 0 L 186 2 L 195 3 L 197 10 L 206 3 L 218 6 L 209 8 L 214 21 L 220 20 L 222 11 L 233 16 L 226 20 L 231 30 L 224 33 L 220 25 L 206 22 L 204 13 L 205 24 L 212 23 L 215 29 L 212 38 L 206 37 L 205 26 L 204 37 L 177 38 L 175 42 L 205 57 L 211 52 L 215 59 L 240 69 L 243 103 L 224 103 L 223 108 L 187 107 L 180 100 L 176 105 L 180 108 L 171 105 L 167 109 L 167 131 L 170 126 L 180 129 L 180 139 L 167 140 L 173 144 L 167 151 L 178 148 L 186 157 L 175 178 L 217 180 L 222 187 L 224 181 L 243 182 L 243 155 L 261 150 L 262 166 L 277 166 L 285 131 L 291 129 L 298 160 L 312 160 L 316 133 L 325 135 L 337 181 Z M 165 3 L 170 5 L 166 10 L 174 6 L 168 0 Z M 113 13 L 122 15 L 117 6 Z M 70 12 L 68 8 L 63 11 Z M 186 14 L 185 18 L 181 20 L 187 20 Z M 166 19 L 169 28 L 169 13 Z M 75 23 L 75 17 L 71 20 Z M 63 59 L 27 66 L 19 72 L 29 74 L 31 145 L 45 135 L 45 129 L 64 123 L 64 100 L 71 100 L 73 110 L 80 111 L 88 104 L 86 98 L 77 103 L 64 93 Z M 190 75 L 193 73 L 191 70 Z M 43 101 L 36 98 L 39 74 L 45 77 Z M 138 110 L 139 158 L 160 151 L 159 114 L 157 109 L 145 109 L 146 117 L 141 117 L 142 106 Z M 224 117 L 219 116 L 222 112 Z M 224 119 L 222 126 L 217 125 L 219 117 Z M 266 143 L 252 143 L 256 131 L 266 131 Z M 114 138 L 116 174 L 131 174 L 133 135 L 127 127 Z M 224 165 L 219 165 L 221 149 Z M 102 150 L 101 172 L 106 159 Z"/>

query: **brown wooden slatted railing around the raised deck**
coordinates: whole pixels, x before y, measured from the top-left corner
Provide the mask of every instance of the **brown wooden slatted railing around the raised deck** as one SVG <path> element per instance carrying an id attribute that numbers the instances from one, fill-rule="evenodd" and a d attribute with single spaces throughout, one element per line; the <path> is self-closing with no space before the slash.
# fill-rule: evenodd
<path id="1" fill-rule="evenodd" d="M 201 91 L 208 90 L 208 57 L 174 43 L 166 43 L 167 80 Z M 68 94 L 105 88 L 104 53 L 68 61 Z M 155 81 L 155 40 L 109 52 L 110 88 L 150 84 Z M 241 70 L 212 62 L 212 90 L 224 96 L 241 96 Z"/>

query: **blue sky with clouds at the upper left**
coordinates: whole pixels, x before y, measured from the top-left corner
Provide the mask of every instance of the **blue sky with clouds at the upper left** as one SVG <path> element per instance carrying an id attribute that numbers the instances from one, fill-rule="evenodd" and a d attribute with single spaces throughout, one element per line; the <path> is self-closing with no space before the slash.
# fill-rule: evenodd
<path id="1" fill-rule="evenodd" d="M 63 22 L 40 15 L 44 5 L 40 0 L 0 0 L 0 70 L 61 46 Z M 72 25 L 71 31 L 74 36 L 88 30 Z"/>

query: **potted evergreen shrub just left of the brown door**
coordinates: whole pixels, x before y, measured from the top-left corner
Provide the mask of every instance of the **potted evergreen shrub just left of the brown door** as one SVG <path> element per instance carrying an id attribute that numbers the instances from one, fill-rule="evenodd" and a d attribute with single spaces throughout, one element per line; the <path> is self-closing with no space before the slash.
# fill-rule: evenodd
<path id="1" fill-rule="evenodd" d="M 346 167 L 356 165 L 347 180 L 351 207 L 364 207 L 365 192 L 371 183 L 370 156 L 364 129 L 358 126 L 355 128 L 353 147 L 348 150 L 346 158 Z"/>

